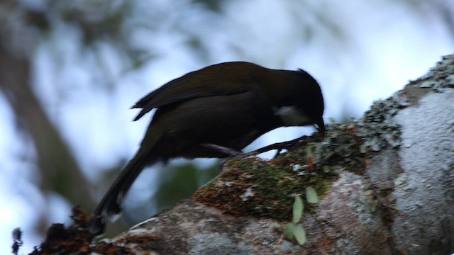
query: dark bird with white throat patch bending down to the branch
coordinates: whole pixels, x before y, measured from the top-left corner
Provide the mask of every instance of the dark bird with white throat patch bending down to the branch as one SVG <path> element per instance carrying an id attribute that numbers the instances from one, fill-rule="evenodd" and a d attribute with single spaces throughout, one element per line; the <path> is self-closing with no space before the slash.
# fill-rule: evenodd
<path id="1" fill-rule="evenodd" d="M 121 203 L 146 167 L 183 157 L 226 158 L 280 127 L 316 125 L 323 137 L 323 95 L 302 69 L 268 69 L 250 62 L 224 62 L 184 74 L 141 98 L 139 120 L 157 108 L 134 157 L 94 210 L 91 231 L 121 215 Z"/>

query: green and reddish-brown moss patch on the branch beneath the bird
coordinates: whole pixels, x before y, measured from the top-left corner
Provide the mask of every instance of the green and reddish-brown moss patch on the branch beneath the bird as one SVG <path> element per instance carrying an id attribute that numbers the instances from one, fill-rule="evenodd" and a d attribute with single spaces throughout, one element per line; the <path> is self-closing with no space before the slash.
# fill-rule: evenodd
<path id="1" fill-rule="evenodd" d="M 292 194 L 304 196 L 306 186 L 326 193 L 328 180 L 327 174 L 298 175 L 292 163 L 282 158 L 270 162 L 255 157 L 236 158 L 228 161 L 221 175 L 194 198 L 234 215 L 289 220 Z"/>

